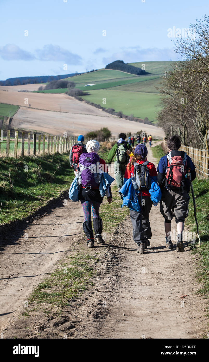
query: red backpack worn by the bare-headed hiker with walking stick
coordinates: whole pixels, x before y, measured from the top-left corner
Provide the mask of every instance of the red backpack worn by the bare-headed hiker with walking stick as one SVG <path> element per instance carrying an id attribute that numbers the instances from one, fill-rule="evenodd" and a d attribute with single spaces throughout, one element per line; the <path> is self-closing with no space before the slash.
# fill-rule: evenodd
<path id="1" fill-rule="evenodd" d="M 184 187 L 187 171 L 187 154 L 183 151 L 170 151 L 167 155 L 166 186 Z"/>

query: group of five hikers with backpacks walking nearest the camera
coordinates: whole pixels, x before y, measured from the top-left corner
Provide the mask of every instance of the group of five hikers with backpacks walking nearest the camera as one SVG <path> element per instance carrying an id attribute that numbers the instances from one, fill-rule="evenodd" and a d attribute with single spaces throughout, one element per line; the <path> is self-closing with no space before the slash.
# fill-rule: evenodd
<path id="1" fill-rule="evenodd" d="M 98 155 L 99 142 L 90 140 L 84 145 L 84 136 L 78 136 L 78 142 L 70 151 L 70 164 L 74 168 L 75 179 L 69 190 L 73 201 L 80 201 L 84 211 L 83 229 L 87 237 L 87 246 L 94 247 L 94 242 L 105 243 L 102 238 L 102 219 L 99 207 L 103 197 L 112 201 L 111 183 L 114 180 L 108 174 L 108 165 L 114 162 L 114 173 L 119 195 L 123 206 L 130 210 L 133 226 L 133 240 L 137 244 L 137 252 L 144 253 L 150 246 L 152 231 L 149 214 L 152 206 L 159 209 L 165 223 L 166 248 L 172 249 L 171 220 L 175 218 L 177 228 L 176 251 L 184 251 L 184 220 L 188 216 L 189 190 L 191 181 L 196 177 L 195 165 L 183 151 L 179 136 L 174 135 L 167 140 L 169 152 L 161 157 L 157 170 L 147 159 L 148 149 L 145 137 L 142 143 L 138 139 L 132 146 L 124 133 L 119 134 L 118 142 L 111 148 L 107 164 Z M 150 135 L 152 143 L 152 136 Z M 138 142 L 139 140 L 139 142 Z M 134 139 L 135 142 L 135 139 Z M 91 209 L 93 228 L 91 224 Z M 94 232 L 93 232 L 94 229 Z M 95 236 L 94 236 L 95 234 Z M 94 239 L 95 238 L 95 239 Z"/>

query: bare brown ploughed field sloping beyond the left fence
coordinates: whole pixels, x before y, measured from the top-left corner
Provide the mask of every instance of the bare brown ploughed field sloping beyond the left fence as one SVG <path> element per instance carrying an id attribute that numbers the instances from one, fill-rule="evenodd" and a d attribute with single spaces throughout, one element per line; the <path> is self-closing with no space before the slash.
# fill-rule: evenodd
<path id="1" fill-rule="evenodd" d="M 32 86 L 38 86 L 37 84 L 29 85 L 31 86 L 28 87 L 29 90 L 35 88 Z M 154 136 L 165 136 L 163 129 L 159 127 L 115 117 L 66 94 L 18 92 L 20 87 L 23 86 L 0 87 L 2 103 L 21 106 L 12 119 L 11 127 L 14 129 L 36 130 L 51 135 L 62 135 L 64 131 L 67 131 L 78 135 L 108 127 L 112 135 L 118 135 L 119 131 L 130 132 L 131 130 L 136 133 L 143 130 Z M 6 88 L 8 92 L 3 90 Z M 25 105 L 25 98 L 28 98 L 27 105 Z"/>

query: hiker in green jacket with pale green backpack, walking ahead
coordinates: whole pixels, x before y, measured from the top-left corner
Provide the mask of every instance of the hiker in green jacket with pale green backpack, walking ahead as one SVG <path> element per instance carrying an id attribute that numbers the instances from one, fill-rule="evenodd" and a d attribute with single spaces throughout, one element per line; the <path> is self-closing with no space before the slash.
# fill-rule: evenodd
<path id="1" fill-rule="evenodd" d="M 126 151 L 131 149 L 131 145 L 125 141 L 125 138 L 125 133 L 119 134 L 118 142 L 114 144 L 107 157 L 107 164 L 111 164 L 115 157 L 114 172 L 118 190 L 123 186 L 123 177 L 128 163 Z"/>

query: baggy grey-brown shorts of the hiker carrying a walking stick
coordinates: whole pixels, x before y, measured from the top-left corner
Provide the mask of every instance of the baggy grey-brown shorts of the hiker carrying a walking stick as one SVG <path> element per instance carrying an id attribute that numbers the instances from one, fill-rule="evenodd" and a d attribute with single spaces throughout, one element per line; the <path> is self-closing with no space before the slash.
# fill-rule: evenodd
<path id="1" fill-rule="evenodd" d="M 188 216 L 189 199 L 190 197 L 186 190 L 182 194 L 164 189 L 160 202 L 160 212 L 167 220 L 172 220 L 175 217 L 184 221 Z"/>

